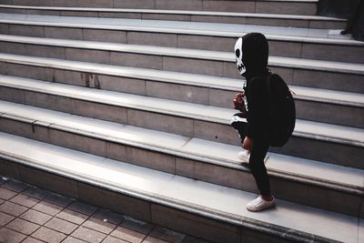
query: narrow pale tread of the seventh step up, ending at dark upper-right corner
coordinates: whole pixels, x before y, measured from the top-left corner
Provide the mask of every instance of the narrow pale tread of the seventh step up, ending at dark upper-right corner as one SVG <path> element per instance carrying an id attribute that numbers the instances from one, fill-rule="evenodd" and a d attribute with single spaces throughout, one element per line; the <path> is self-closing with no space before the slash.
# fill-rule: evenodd
<path id="1" fill-rule="evenodd" d="M 260 14 L 260 13 L 234 13 L 216 11 L 188 11 L 188 10 L 166 10 L 166 9 L 134 9 L 134 8 L 98 8 L 98 7 L 68 7 L 68 6 L 30 6 L 30 5 L 0 5 L 4 8 L 32 9 L 32 10 L 54 10 L 54 11 L 79 11 L 79 12 L 112 12 L 112 13 L 141 13 L 141 14 L 163 14 L 163 15 L 216 15 L 216 16 L 239 16 L 256 18 L 280 18 L 315 21 L 347 21 L 343 18 L 327 17 L 319 15 L 284 15 L 284 14 Z"/>

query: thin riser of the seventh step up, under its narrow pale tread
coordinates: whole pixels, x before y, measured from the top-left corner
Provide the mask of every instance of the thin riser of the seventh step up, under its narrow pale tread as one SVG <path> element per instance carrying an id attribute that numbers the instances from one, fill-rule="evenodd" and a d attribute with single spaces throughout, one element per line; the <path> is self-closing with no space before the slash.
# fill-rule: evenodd
<path id="1" fill-rule="evenodd" d="M 304 19 L 280 19 L 273 17 L 252 17 L 252 16 L 218 16 L 218 15 L 187 15 L 187 14 L 152 14 L 152 13 L 115 13 L 115 12 L 90 12 L 90 11 L 60 11 L 60 10 L 35 10 L 1 8 L 0 13 L 22 14 L 22 15 L 59 15 L 59 16 L 84 16 L 84 17 L 107 17 L 107 18 L 134 18 L 169 21 L 192 21 L 207 23 L 225 23 L 239 25 L 271 25 L 291 26 L 302 28 L 322 29 L 344 29 L 346 22 L 329 20 L 304 20 Z"/>

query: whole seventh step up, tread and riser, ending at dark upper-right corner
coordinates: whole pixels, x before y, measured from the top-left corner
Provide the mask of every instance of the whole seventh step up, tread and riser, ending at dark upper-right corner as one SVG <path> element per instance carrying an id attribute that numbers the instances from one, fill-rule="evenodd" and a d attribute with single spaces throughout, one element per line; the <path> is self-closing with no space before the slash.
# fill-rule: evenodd
<path id="1" fill-rule="evenodd" d="M 218 10 L 220 11 L 220 10 Z M 61 15 L 107 18 L 136 18 L 240 25 L 273 25 L 305 28 L 345 29 L 346 19 L 316 15 L 277 15 L 163 9 L 125 9 L 99 7 L 59 7 L 0 5 L 0 13 L 24 15 Z"/>

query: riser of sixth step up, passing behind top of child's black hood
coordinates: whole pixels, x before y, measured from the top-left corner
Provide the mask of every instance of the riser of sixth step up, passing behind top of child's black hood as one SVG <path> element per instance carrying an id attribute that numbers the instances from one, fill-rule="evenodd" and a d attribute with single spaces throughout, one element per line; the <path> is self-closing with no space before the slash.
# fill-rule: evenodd
<path id="1" fill-rule="evenodd" d="M 236 37 L 166 34 L 136 31 L 66 28 L 41 25 L 0 24 L 0 33 L 90 41 L 128 43 L 136 45 L 183 47 L 231 52 Z M 364 48 L 360 46 L 325 45 L 300 42 L 269 41 L 272 56 L 302 57 L 308 59 L 364 63 Z"/>

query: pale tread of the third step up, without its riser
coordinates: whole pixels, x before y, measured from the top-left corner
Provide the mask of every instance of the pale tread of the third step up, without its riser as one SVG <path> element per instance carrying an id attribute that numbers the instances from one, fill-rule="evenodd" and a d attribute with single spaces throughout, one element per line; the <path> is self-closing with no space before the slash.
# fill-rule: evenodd
<path id="1" fill-rule="evenodd" d="M 95 102 L 96 100 L 96 102 L 108 105 L 131 107 L 172 116 L 187 116 L 222 124 L 230 124 L 231 117 L 237 113 L 236 110 L 231 108 L 191 104 L 157 97 L 90 89 L 82 86 L 69 86 L 15 76 L 0 77 L 0 84 L 3 86 L 14 86 L 54 94 L 56 96 L 79 98 L 91 102 Z M 356 127 L 343 127 L 297 119 L 294 134 L 303 137 L 320 137 L 320 139 L 324 140 L 334 139 L 339 143 L 346 142 L 364 147 L 364 129 Z"/>

